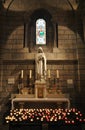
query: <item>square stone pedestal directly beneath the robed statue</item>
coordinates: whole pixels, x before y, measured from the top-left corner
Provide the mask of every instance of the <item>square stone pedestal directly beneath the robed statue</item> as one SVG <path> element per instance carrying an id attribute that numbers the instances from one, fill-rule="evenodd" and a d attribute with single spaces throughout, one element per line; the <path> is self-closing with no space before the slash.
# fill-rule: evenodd
<path id="1" fill-rule="evenodd" d="M 35 97 L 46 98 L 46 81 L 35 81 Z"/>

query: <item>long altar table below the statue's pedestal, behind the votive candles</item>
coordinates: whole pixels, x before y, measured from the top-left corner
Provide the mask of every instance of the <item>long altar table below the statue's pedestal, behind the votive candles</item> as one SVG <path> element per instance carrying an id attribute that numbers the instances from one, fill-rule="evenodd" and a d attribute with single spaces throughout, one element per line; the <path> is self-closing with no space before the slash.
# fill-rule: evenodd
<path id="1" fill-rule="evenodd" d="M 59 104 L 64 103 L 66 108 L 70 108 L 70 100 L 68 98 L 13 98 L 11 100 L 12 110 L 15 109 L 16 103 L 22 104 L 23 108 L 26 108 L 26 106 L 27 108 L 57 108 Z"/>

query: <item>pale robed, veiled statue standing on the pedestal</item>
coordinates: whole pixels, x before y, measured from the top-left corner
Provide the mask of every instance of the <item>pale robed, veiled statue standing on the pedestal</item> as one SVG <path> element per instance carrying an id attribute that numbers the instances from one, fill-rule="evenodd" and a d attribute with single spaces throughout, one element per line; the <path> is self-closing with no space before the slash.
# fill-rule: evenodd
<path id="1" fill-rule="evenodd" d="M 46 57 L 43 52 L 43 49 L 41 47 L 38 48 L 38 53 L 35 57 L 35 74 L 36 74 L 36 80 L 46 80 Z"/>

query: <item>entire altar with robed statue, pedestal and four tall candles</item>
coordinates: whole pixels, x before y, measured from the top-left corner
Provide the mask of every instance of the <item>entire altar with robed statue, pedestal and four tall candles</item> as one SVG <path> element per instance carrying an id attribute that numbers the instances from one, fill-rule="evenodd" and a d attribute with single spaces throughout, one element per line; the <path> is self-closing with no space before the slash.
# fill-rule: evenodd
<path id="1" fill-rule="evenodd" d="M 11 98 L 11 109 L 15 108 L 70 108 L 70 99 L 62 93 L 59 88 L 59 71 L 56 70 L 53 85 L 51 81 L 50 70 L 47 71 L 46 56 L 41 47 L 35 56 L 35 80 L 34 93 L 29 93 L 32 89 L 32 70 L 29 71 L 29 84 L 24 87 L 23 70 L 21 71 L 21 86 L 19 85 L 19 94 Z M 49 82 L 49 85 L 48 83 Z M 51 85 L 51 86 L 50 86 Z M 54 87 L 55 86 L 55 87 Z M 49 90 L 48 90 L 49 89 Z M 51 89 L 54 89 L 51 90 Z M 50 93 L 51 92 L 51 93 Z"/>

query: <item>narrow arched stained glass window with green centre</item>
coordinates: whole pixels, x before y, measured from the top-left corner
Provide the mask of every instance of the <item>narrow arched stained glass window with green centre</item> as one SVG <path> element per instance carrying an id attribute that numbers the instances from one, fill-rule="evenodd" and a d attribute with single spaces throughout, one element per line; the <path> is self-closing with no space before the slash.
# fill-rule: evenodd
<path id="1" fill-rule="evenodd" d="M 36 44 L 46 44 L 46 21 L 44 19 L 37 19 L 36 21 Z"/>

